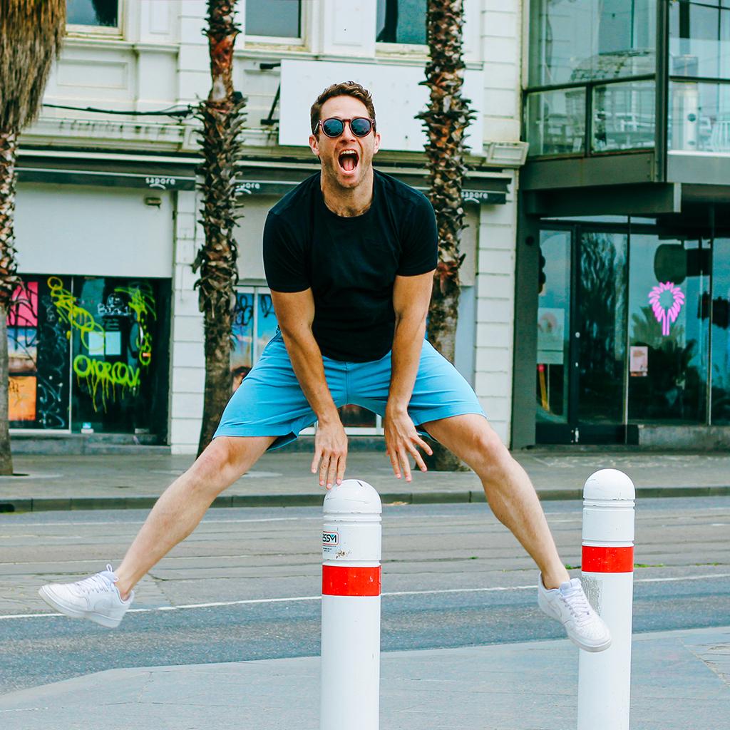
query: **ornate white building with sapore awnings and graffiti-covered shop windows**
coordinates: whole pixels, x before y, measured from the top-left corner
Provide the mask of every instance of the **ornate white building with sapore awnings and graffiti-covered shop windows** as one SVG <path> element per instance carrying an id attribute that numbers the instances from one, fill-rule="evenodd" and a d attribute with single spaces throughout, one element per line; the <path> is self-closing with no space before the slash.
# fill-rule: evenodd
<path id="1" fill-rule="evenodd" d="M 309 107 L 331 82 L 374 93 L 376 166 L 426 188 L 426 0 L 239 0 L 234 85 L 247 97 L 239 175 L 234 383 L 272 336 L 266 212 L 318 169 Z M 515 363 L 519 0 L 466 0 L 469 129 L 457 365 L 510 442 Z M 196 449 L 202 319 L 191 264 L 203 240 L 191 108 L 210 87 L 204 0 L 69 0 L 68 35 L 37 123 L 20 140 L 23 287 L 9 316 L 16 440 L 122 434 Z M 534 337 L 533 337 L 534 339 Z M 533 404 L 534 410 L 534 404 Z M 380 432 L 346 408 L 352 434 Z"/>

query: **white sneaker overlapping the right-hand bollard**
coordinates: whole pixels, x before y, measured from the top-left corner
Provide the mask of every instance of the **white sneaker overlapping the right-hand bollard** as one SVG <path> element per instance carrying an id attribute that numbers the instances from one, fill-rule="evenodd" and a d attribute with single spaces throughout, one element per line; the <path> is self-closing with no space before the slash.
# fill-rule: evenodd
<path id="1" fill-rule="evenodd" d="M 550 618 L 563 624 L 568 638 L 585 651 L 603 651 L 611 645 L 611 634 L 603 619 L 593 610 L 583 593 L 580 578 L 561 583 L 560 588 L 545 588 L 542 575 L 537 583 L 537 604 Z"/>

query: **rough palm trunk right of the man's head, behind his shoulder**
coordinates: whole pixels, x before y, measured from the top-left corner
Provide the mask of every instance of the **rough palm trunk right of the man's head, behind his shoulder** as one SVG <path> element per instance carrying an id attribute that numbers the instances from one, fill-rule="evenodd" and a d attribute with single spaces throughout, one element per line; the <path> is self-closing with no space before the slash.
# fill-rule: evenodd
<path id="1" fill-rule="evenodd" d="M 429 63 L 426 81 L 430 103 L 418 115 L 426 128 L 426 157 L 429 165 L 429 198 L 439 229 L 439 263 L 429 307 L 429 342 L 453 362 L 458 320 L 459 275 L 464 261 L 459 254 L 464 229 L 461 185 L 464 177 L 464 137 L 473 112 L 469 99 L 461 96 L 464 82 L 462 58 L 463 0 L 429 0 L 426 15 Z M 445 447 L 436 444 L 429 468 L 458 469 L 459 461 Z"/>

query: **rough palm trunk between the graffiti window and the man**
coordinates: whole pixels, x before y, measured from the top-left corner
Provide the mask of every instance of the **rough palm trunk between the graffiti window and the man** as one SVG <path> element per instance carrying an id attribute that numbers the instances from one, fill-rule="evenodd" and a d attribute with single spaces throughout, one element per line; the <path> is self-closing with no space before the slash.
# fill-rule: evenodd
<path id="1" fill-rule="evenodd" d="M 201 224 L 205 242 L 193 264 L 205 328 L 205 393 L 198 453 L 210 443 L 231 397 L 231 324 L 238 281 L 236 165 L 241 157 L 240 113 L 245 99 L 234 93 L 233 49 L 240 32 L 234 22 L 236 0 L 208 0 L 210 94 L 200 104 L 203 193 Z"/>

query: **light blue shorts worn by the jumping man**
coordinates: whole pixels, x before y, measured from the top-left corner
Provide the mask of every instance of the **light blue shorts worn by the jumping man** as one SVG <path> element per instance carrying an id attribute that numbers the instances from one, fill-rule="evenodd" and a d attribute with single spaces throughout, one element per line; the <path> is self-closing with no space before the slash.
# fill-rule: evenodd
<path id="1" fill-rule="evenodd" d="M 391 353 L 366 363 L 323 357 L 329 392 L 339 408 L 354 404 L 385 415 Z M 475 392 L 456 368 L 424 340 L 408 413 L 416 426 L 465 413 L 484 415 Z M 296 439 L 317 420 L 296 379 L 280 331 L 243 379 L 220 418 L 217 436 L 275 436 L 269 447 Z"/>

